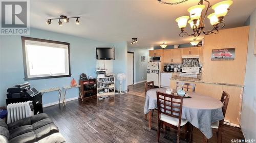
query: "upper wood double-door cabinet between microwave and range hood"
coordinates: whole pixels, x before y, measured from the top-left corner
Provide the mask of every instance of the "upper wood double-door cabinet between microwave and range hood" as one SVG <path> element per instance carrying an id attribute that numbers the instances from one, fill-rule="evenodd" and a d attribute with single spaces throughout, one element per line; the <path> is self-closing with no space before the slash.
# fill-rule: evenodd
<path id="1" fill-rule="evenodd" d="M 163 50 L 163 63 L 173 64 L 181 63 L 182 49 L 164 49 Z"/>

